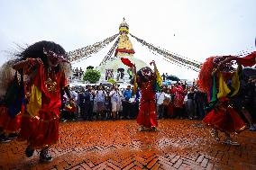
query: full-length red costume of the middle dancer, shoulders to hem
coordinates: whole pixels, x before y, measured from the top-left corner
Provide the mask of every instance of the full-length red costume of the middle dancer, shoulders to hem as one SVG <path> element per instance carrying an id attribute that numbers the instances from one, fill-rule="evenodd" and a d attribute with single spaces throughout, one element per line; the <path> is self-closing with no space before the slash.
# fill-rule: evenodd
<path id="1" fill-rule="evenodd" d="M 156 98 L 153 82 L 150 80 L 141 85 L 142 98 L 137 122 L 146 128 L 157 127 Z"/>

